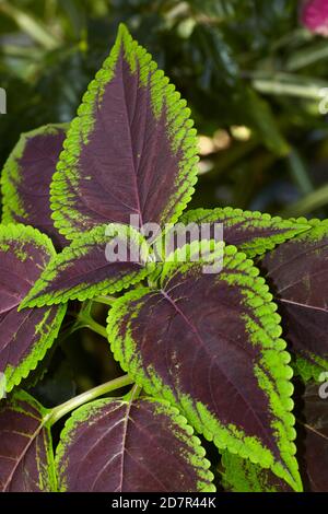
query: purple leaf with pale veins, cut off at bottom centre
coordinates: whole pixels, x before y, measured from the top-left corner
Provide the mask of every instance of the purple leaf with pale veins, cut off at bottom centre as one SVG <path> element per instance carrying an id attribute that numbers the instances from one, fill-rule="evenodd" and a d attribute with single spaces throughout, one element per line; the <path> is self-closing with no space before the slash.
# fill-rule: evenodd
<path id="1" fill-rule="evenodd" d="M 74 411 L 56 452 L 60 491 L 214 491 L 186 419 L 153 398 L 101 399 Z"/>

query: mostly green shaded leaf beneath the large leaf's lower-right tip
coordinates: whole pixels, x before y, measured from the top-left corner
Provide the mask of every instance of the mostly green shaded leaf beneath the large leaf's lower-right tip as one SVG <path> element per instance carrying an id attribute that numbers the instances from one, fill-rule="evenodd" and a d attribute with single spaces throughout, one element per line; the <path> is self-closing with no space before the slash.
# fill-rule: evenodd
<path id="1" fill-rule="evenodd" d="M 222 484 L 230 492 L 292 492 L 291 487 L 270 469 L 230 452 L 222 455 Z"/>

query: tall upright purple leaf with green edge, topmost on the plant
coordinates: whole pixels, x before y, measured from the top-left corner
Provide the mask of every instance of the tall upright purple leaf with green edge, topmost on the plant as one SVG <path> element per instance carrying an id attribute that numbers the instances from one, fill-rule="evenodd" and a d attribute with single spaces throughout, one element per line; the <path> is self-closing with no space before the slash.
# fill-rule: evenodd
<path id="1" fill-rule="evenodd" d="M 119 26 L 63 143 L 51 185 L 68 238 L 104 223 L 175 222 L 194 191 L 196 130 L 186 102 Z"/>

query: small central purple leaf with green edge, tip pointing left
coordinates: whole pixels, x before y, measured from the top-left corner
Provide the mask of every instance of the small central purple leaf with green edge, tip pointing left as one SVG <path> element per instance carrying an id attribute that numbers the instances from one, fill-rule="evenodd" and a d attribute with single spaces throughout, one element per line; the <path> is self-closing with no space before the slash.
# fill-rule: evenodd
<path id="1" fill-rule="evenodd" d="M 106 248 L 110 242 L 127 248 L 124 259 L 118 257 L 117 261 L 107 260 Z M 63 248 L 61 254 L 54 256 L 20 308 L 52 305 L 74 299 L 82 302 L 97 294 L 120 291 L 151 272 L 153 266 L 145 266 L 147 258 L 145 241 L 132 226 L 115 223 L 96 226 Z"/>

